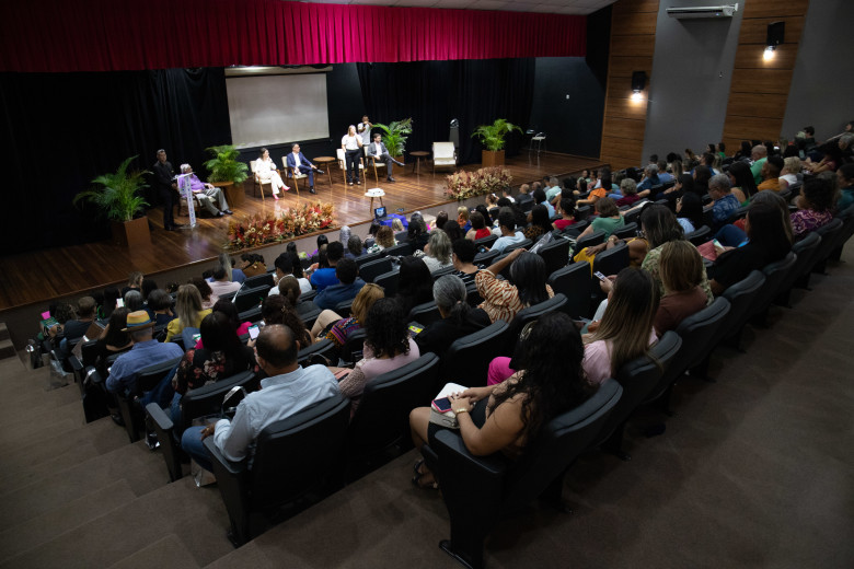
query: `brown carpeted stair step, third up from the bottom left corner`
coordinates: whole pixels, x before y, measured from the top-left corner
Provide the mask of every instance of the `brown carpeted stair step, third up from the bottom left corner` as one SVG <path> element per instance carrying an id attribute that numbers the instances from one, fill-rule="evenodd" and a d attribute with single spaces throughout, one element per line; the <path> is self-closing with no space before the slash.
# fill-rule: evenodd
<path id="1" fill-rule="evenodd" d="M 109 420 L 109 419 L 107 419 Z M 94 423 L 93 423 L 94 425 Z M 90 444 L 93 444 L 90 442 Z M 31 520 L 80 496 L 124 479 L 137 496 L 145 496 L 169 483 L 169 473 L 160 453 L 152 453 L 142 441 L 92 456 L 72 466 L 42 473 L 19 488 L 3 488 L 0 495 L 0 530 Z"/>

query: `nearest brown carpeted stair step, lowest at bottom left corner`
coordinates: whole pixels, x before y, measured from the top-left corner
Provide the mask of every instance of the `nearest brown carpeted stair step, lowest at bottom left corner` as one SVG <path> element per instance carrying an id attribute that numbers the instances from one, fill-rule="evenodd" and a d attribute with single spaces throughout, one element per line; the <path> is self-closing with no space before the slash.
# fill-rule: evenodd
<path id="1" fill-rule="evenodd" d="M 109 567 L 168 535 L 205 566 L 233 550 L 227 526 L 216 486 L 196 488 L 187 477 L 8 559 L 0 569 Z"/>

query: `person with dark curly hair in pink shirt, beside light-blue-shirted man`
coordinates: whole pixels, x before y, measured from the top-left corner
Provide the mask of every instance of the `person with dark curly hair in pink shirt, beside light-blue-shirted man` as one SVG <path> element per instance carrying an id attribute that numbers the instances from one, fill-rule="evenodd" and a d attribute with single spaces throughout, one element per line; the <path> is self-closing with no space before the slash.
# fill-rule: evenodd
<path id="1" fill-rule="evenodd" d="M 369 381 L 420 357 L 418 345 L 409 337 L 406 313 L 394 299 L 379 299 L 368 311 L 362 356 L 353 371 L 338 382 L 342 395 L 353 402 L 350 417 L 356 414 Z M 332 368 L 332 371 L 341 370 Z"/>

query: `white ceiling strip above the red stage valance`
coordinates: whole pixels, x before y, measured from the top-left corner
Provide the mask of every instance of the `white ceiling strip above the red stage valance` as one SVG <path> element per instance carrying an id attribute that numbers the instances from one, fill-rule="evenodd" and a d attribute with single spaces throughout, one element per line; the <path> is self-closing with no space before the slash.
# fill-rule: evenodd
<path id="1" fill-rule="evenodd" d="M 590 14 L 616 0 L 300 0 L 324 4 L 403 5 L 452 10 L 501 10 L 550 14 Z"/>

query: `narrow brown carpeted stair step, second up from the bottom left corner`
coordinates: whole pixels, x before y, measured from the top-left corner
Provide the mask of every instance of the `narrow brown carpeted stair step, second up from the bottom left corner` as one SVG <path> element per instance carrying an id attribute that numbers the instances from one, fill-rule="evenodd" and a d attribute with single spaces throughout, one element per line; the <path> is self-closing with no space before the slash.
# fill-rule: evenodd
<path id="1" fill-rule="evenodd" d="M 91 493 L 0 532 L 0 561 L 22 554 L 81 524 L 136 500 L 126 480 L 116 480 Z"/>

